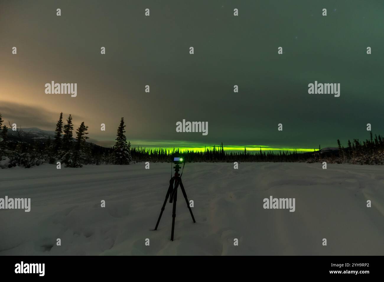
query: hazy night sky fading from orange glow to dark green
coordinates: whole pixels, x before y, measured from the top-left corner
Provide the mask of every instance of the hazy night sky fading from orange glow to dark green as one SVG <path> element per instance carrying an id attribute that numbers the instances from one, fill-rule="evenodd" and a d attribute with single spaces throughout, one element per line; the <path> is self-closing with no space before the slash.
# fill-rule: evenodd
<path id="1" fill-rule="evenodd" d="M 1 1 L 0 112 L 44 130 L 71 113 L 104 146 L 121 117 L 133 146 L 346 145 L 368 138 L 367 123 L 384 131 L 383 11 L 374 0 Z M 52 80 L 77 83 L 77 97 L 46 94 Z M 308 94 L 315 80 L 340 83 L 340 97 Z M 208 121 L 208 135 L 177 133 L 183 119 Z"/>

